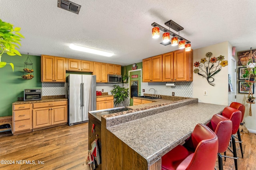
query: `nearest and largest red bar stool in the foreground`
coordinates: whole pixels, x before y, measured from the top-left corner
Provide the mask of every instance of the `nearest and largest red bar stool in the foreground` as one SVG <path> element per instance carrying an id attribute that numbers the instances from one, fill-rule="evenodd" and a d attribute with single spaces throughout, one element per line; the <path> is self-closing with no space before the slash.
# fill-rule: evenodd
<path id="1" fill-rule="evenodd" d="M 218 137 L 206 125 L 197 124 L 184 146 L 178 145 L 162 156 L 162 170 L 214 169 Z"/>

